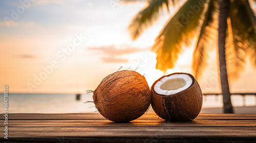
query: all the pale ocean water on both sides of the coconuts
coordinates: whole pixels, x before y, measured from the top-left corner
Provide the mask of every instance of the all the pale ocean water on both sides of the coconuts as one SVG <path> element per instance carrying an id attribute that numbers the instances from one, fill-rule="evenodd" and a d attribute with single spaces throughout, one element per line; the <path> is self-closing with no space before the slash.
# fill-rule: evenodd
<path id="1" fill-rule="evenodd" d="M 80 101 L 75 94 L 14 94 L 8 96 L 8 111 L 10 113 L 86 113 L 97 112 L 93 94 L 81 94 Z M 243 106 L 242 96 L 231 97 L 233 106 Z M 246 96 L 246 106 L 255 106 L 256 97 Z M 3 106 L 1 106 L 3 105 Z M 222 107 L 222 96 L 203 97 L 203 108 Z M 0 111 L 4 111 L 4 95 L 0 99 Z"/>

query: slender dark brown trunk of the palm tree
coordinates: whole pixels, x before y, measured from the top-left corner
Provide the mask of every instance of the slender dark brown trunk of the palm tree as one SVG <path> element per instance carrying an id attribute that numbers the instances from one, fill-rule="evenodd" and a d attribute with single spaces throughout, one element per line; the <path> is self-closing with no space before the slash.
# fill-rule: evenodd
<path id="1" fill-rule="evenodd" d="M 230 0 L 219 0 L 220 17 L 219 17 L 219 63 L 220 63 L 220 78 L 221 90 L 223 95 L 224 113 L 233 113 L 233 107 L 230 99 L 226 56 L 225 56 L 225 37 L 227 28 L 227 17 L 229 12 Z"/>

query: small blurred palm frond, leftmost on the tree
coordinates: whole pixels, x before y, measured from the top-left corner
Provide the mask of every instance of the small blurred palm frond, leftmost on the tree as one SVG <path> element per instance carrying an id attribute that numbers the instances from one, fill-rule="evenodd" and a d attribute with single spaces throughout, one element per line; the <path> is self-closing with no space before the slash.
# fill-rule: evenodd
<path id="1" fill-rule="evenodd" d="M 137 15 L 135 15 L 128 27 L 133 40 L 137 39 L 145 29 L 152 26 L 153 23 L 158 20 L 164 5 L 168 9 L 169 1 L 150 1 L 146 8 L 144 8 Z"/>

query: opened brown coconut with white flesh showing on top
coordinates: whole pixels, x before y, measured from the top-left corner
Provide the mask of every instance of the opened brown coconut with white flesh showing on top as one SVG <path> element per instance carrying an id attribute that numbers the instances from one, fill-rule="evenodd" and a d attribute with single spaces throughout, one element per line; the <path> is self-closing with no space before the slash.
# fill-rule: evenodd
<path id="1" fill-rule="evenodd" d="M 197 117 L 202 108 L 202 91 L 196 79 L 186 73 L 163 76 L 151 87 L 152 107 L 168 121 L 186 122 Z"/>

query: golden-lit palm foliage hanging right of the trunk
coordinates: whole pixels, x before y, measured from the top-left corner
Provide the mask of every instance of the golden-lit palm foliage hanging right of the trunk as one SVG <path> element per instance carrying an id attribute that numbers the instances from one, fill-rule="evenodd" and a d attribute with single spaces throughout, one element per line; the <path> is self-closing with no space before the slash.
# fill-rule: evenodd
<path id="1" fill-rule="evenodd" d="M 232 26 L 234 53 L 233 58 L 227 59 L 231 63 L 228 74 L 236 77 L 244 68 L 246 54 L 253 65 L 256 65 L 256 31 L 255 16 L 248 1 L 234 0 L 230 5 L 230 22 Z M 226 48 L 229 48 L 228 46 Z"/>

